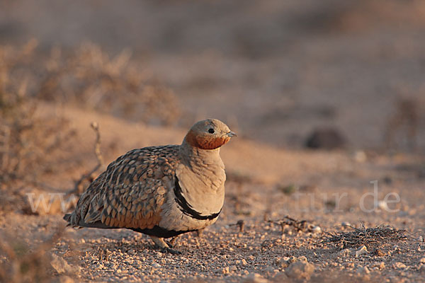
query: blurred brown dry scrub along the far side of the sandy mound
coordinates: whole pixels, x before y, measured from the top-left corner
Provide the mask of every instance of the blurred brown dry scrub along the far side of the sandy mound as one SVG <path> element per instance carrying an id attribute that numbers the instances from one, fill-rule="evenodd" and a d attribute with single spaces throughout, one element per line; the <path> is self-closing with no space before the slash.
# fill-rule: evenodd
<path id="1" fill-rule="evenodd" d="M 115 57 L 98 45 L 82 44 L 75 50 L 53 47 L 50 55 L 37 50 L 37 42 L 0 46 L 1 91 L 22 100 L 35 98 L 74 104 L 138 122 L 171 125 L 180 115 L 174 93 L 131 62 L 131 53 Z"/>

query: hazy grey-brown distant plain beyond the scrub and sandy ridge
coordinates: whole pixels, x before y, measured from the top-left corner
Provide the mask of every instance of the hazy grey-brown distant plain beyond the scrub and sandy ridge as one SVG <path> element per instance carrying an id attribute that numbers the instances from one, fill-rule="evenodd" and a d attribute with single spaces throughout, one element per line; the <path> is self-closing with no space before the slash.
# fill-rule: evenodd
<path id="1" fill-rule="evenodd" d="M 407 97 L 424 148 L 424 11 L 421 1 L 18 0 L 0 9 L 0 42 L 130 50 L 149 81 L 176 93 L 181 127 L 216 117 L 285 148 L 335 127 L 351 148 L 379 149 Z"/>

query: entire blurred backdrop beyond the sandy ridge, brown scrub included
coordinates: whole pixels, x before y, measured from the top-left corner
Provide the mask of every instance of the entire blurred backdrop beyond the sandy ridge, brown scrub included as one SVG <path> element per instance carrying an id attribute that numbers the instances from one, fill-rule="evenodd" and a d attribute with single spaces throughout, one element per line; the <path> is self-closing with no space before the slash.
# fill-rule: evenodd
<path id="1" fill-rule="evenodd" d="M 149 125 L 216 117 L 283 148 L 423 151 L 424 34 L 419 0 L 3 0 L 2 105 L 18 93 Z"/>

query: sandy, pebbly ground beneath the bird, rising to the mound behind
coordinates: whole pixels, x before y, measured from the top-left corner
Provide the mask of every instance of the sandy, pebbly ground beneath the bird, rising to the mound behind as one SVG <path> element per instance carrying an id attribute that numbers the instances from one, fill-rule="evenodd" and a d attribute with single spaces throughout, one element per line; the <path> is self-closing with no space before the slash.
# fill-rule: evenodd
<path id="1" fill-rule="evenodd" d="M 94 133 L 89 124 L 98 121 L 102 150 L 106 161 L 137 146 L 176 144 L 185 129 L 154 128 L 129 123 L 108 115 L 73 108 L 59 108 L 76 127 L 77 147 L 70 156 L 85 156 L 74 171 L 45 176 L 50 185 L 62 191 L 89 171 L 96 158 L 92 153 Z M 43 113 L 58 111 L 45 105 Z M 86 125 L 86 127 L 81 126 Z M 113 145 L 113 146 L 111 146 Z M 53 255 L 48 274 L 61 282 L 261 282 L 283 279 L 322 282 L 334 279 L 386 282 L 421 282 L 424 280 L 424 160 L 397 154 L 351 153 L 348 151 L 285 151 L 253 141 L 234 139 L 222 149 L 229 180 L 226 183 L 225 207 L 217 223 L 198 237 L 189 233 L 176 238 L 174 247 L 182 255 L 155 250 L 147 236 L 127 230 L 65 229 L 47 253 Z M 74 160 L 78 158 L 75 157 Z M 69 158 L 69 163 L 74 162 Z M 72 172 L 72 173 L 69 173 Z M 400 200 L 382 202 L 380 212 L 363 212 L 361 197 L 373 192 L 370 181 L 378 180 L 378 200 L 395 192 Z M 292 186 L 294 189 L 285 190 Z M 26 192 L 47 194 L 30 187 Z M 338 200 L 335 199 L 338 198 Z M 388 198 L 387 200 L 393 200 Z M 365 209 L 373 208 L 367 197 Z M 55 207 L 55 204 L 53 204 Z M 19 235 L 31 249 L 48 239 L 64 225 L 61 209 L 38 215 L 20 209 L 2 212 L 0 229 L 4 235 Z M 286 215 L 307 220 L 314 231 L 297 232 L 278 221 Z M 244 221 L 244 231 L 234 225 Z M 344 231 L 343 222 L 367 227 L 390 224 L 406 229 L 412 239 L 382 244 L 382 254 L 374 250 L 356 256 L 356 249 L 344 250 L 320 243 L 324 231 Z M 16 239 L 8 240 L 13 243 Z M 371 249 L 371 248 L 370 248 Z M 7 260 L 0 258 L 2 264 Z M 5 261 L 6 260 L 6 261 Z M 307 262 L 308 263 L 307 263 Z M 55 263 L 56 262 L 56 263 Z M 295 263 L 300 262 L 300 263 Z M 63 267 L 65 265 L 65 267 Z M 292 265 L 292 267 L 291 267 Z M 66 281 L 68 280 L 68 281 Z M 326 281 L 325 280 L 325 281 Z M 265 281 L 264 281 L 265 282 Z"/>

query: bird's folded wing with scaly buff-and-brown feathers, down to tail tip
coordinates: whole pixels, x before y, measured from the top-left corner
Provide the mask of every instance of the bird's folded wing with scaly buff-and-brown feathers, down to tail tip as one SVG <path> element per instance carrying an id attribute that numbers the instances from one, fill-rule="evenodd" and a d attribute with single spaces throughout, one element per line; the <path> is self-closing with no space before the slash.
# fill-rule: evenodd
<path id="1" fill-rule="evenodd" d="M 178 146 L 134 149 L 109 164 L 64 219 L 73 226 L 152 229 L 173 182 Z"/>

